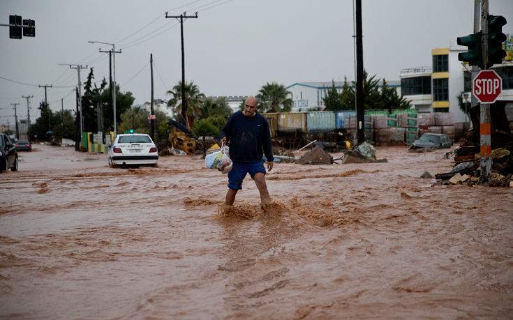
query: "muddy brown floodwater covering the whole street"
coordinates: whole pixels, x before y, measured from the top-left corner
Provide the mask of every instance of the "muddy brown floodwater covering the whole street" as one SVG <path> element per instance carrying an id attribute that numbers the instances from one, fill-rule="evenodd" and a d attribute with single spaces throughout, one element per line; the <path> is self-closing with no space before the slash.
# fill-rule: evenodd
<path id="1" fill-rule="evenodd" d="M 198 155 L 36 145 L 0 174 L 0 318 L 511 319 L 513 190 L 419 178 L 445 152 L 276 163 L 264 214 Z"/>

